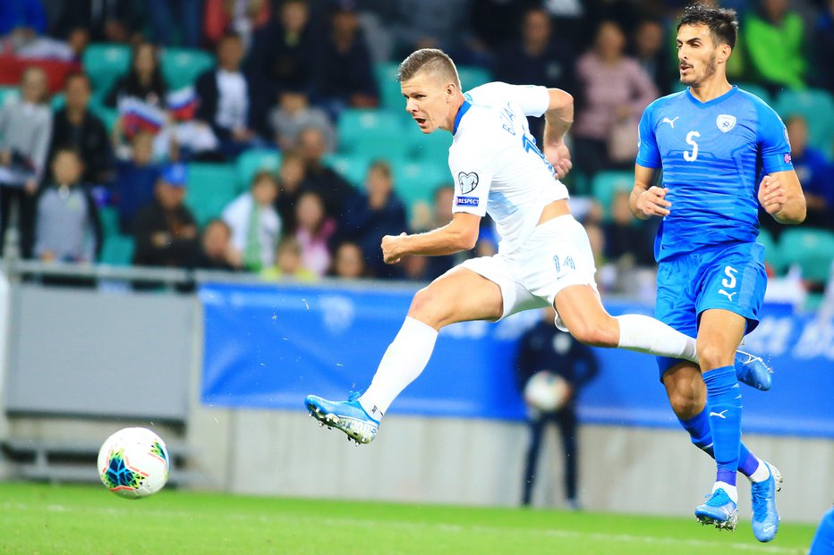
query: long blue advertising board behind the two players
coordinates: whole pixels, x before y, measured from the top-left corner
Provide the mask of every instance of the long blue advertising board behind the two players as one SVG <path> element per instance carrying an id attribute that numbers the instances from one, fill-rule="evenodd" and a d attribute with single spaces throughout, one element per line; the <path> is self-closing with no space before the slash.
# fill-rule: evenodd
<path id="1" fill-rule="evenodd" d="M 413 289 L 377 286 L 242 286 L 200 290 L 205 312 L 204 403 L 304 410 L 315 393 L 361 391 L 394 339 Z M 650 314 L 644 304 L 606 300 L 611 314 Z M 771 391 L 745 388 L 745 432 L 834 437 L 834 322 L 766 307 L 746 349 L 770 358 Z M 497 324 L 440 332 L 429 366 L 396 399 L 396 414 L 523 419 L 513 359 L 531 311 Z M 654 358 L 595 349 L 600 375 L 578 402 L 583 422 L 677 427 Z M 393 413 L 392 413 L 393 414 Z"/>

